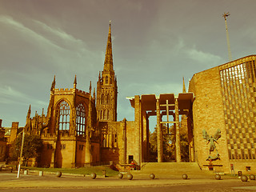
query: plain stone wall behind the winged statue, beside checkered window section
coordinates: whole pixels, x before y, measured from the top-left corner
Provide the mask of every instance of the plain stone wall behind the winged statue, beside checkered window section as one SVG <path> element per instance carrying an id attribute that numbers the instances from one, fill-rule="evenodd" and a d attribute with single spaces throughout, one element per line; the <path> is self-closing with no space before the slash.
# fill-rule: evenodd
<path id="1" fill-rule="evenodd" d="M 210 143 L 203 138 L 202 130 L 209 136 L 214 136 L 218 129 L 221 138 L 215 142 L 220 159 L 213 161 L 214 165 L 222 166 L 224 172 L 229 172 L 229 158 L 226 144 L 226 129 L 224 121 L 221 83 L 218 67 L 194 74 L 190 81 L 189 92 L 194 92 L 193 121 L 194 121 L 194 153 L 199 166 L 206 168 L 206 159 L 215 156 L 217 151 L 210 153 Z M 205 166 L 204 166 L 205 165 Z"/>

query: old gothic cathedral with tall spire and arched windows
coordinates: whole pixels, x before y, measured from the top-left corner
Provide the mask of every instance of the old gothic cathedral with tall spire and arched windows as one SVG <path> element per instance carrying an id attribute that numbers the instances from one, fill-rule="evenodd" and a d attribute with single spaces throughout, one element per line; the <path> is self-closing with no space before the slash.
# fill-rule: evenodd
<path id="1" fill-rule="evenodd" d="M 73 88 L 58 89 L 55 83 L 54 76 L 47 113 L 42 111 L 39 115 L 36 112 L 31 118 L 29 108 L 26 116 L 25 133 L 39 134 L 44 143 L 38 166 L 79 167 L 136 162 L 140 155 L 134 150 L 137 148 L 134 145 L 134 122 L 126 119 L 117 122 L 118 85 L 113 66 L 111 26 L 104 67 L 98 75 L 97 94 L 95 89 L 92 93 L 91 82 L 89 92 L 78 90 L 76 76 Z M 12 127 L 9 142 L 14 141 L 17 134 L 18 125 Z M 130 150 L 127 150 L 128 146 Z"/>

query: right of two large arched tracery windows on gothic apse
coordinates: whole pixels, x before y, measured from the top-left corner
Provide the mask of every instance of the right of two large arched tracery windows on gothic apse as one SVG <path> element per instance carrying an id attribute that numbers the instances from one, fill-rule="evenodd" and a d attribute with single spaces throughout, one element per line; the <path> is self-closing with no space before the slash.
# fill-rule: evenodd
<path id="1" fill-rule="evenodd" d="M 77 118 L 76 118 L 76 130 L 77 130 L 77 134 L 86 134 L 86 109 L 85 106 L 82 105 L 82 103 L 80 103 L 77 107 L 76 107 L 76 114 L 77 114 Z"/>

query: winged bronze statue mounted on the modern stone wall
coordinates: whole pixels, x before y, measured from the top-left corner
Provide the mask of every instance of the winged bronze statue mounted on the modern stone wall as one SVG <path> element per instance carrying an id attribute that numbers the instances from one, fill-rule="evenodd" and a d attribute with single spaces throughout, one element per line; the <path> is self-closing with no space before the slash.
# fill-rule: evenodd
<path id="1" fill-rule="evenodd" d="M 209 155 L 208 158 L 206 159 L 206 161 L 214 161 L 214 160 L 220 159 L 218 150 L 216 149 L 216 146 L 215 146 L 215 142 L 218 144 L 217 140 L 218 140 L 218 138 L 221 137 L 221 130 L 218 129 L 217 132 L 214 134 L 214 137 L 209 136 L 209 134 L 207 134 L 206 130 L 202 130 L 202 137 L 204 139 L 206 139 L 207 144 L 210 142 L 210 154 L 214 150 L 216 150 L 216 152 L 217 152 L 217 154 L 215 156 Z"/>

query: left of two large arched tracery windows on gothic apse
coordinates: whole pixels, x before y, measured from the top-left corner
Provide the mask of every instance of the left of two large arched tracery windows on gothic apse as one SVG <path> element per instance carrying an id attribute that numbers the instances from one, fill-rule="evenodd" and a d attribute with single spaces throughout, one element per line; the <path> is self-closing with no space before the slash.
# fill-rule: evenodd
<path id="1" fill-rule="evenodd" d="M 65 101 L 58 104 L 58 129 L 70 130 L 70 105 Z"/>

